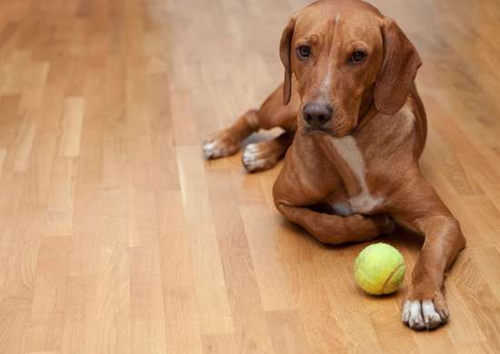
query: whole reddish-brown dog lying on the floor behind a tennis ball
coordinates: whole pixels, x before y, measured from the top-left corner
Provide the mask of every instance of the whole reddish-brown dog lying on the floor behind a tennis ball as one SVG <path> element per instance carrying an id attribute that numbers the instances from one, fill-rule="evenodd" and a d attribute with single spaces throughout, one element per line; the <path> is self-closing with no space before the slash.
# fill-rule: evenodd
<path id="1" fill-rule="evenodd" d="M 277 209 L 331 244 L 391 232 L 393 218 L 420 231 L 425 243 L 402 319 L 413 329 L 444 323 L 444 273 L 465 238 L 419 170 L 426 123 L 414 83 L 421 65 L 414 45 L 371 5 L 320 0 L 292 16 L 280 56 L 285 83 L 260 110 L 205 142 L 205 157 L 237 152 L 261 128 L 285 129 L 243 154 L 254 172 L 274 166 L 288 150 L 274 187 Z"/>

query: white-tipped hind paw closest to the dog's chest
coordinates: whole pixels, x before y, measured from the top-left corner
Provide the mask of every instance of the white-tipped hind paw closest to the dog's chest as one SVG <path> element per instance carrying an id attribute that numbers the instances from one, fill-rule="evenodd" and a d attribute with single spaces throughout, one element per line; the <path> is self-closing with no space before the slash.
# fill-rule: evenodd
<path id="1" fill-rule="evenodd" d="M 282 152 L 275 142 L 249 143 L 245 146 L 242 163 L 247 172 L 259 172 L 273 168 L 281 158 Z"/>

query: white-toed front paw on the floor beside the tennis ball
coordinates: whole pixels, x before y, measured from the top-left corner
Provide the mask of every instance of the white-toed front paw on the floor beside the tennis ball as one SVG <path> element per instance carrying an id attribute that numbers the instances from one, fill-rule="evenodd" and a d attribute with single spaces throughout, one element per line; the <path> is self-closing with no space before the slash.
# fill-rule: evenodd
<path id="1" fill-rule="evenodd" d="M 435 291 L 434 298 L 415 296 L 412 292 L 408 292 L 403 303 L 401 319 L 405 325 L 412 329 L 435 329 L 447 322 L 450 311 L 441 291 Z"/>

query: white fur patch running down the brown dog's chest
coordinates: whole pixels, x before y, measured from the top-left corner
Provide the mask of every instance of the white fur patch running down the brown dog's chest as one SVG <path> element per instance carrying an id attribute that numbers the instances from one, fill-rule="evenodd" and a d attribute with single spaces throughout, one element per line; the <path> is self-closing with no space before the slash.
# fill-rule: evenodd
<path id="1" fill-rule="evenodd" d="M 363 160 L 361 151 L 355 143 L 355 138 L 352 136 L 345 136 L 339 139 L 333 138 L 331 142 L 335 150 L 355 175 L 361 188 L 361 192 L 348 201 L 351 206 L 350 209 L 353 212 L 361 213 L 372 211 L 376 205 L 384 200 L 382 198 L 375 198 L 370 194 L 370 191 L 368 191 L 368 186 L 366 185 L 365 161 Z M 336 206 L 336 204 L 333 206 L 334 209 Z M 345 209 L 345 207 L 339 209 Z"/>

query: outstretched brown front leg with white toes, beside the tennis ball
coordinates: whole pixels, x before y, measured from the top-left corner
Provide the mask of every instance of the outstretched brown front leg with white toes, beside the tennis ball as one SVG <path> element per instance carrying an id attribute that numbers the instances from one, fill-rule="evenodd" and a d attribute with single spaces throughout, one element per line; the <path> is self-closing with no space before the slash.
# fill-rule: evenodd
<path id="1" fill-rule="evenodd" d="M 458 221 L 424 178 L 410 179 L 405 186 L 395 196 L 401 203 L 395 206 L 394 216 L 421 231 L 425 241 L 403 302 L 402 320 L 412 329 L 434 329 L 450 315 L 445 271 L 465 248 L 465 238 Z"/>

